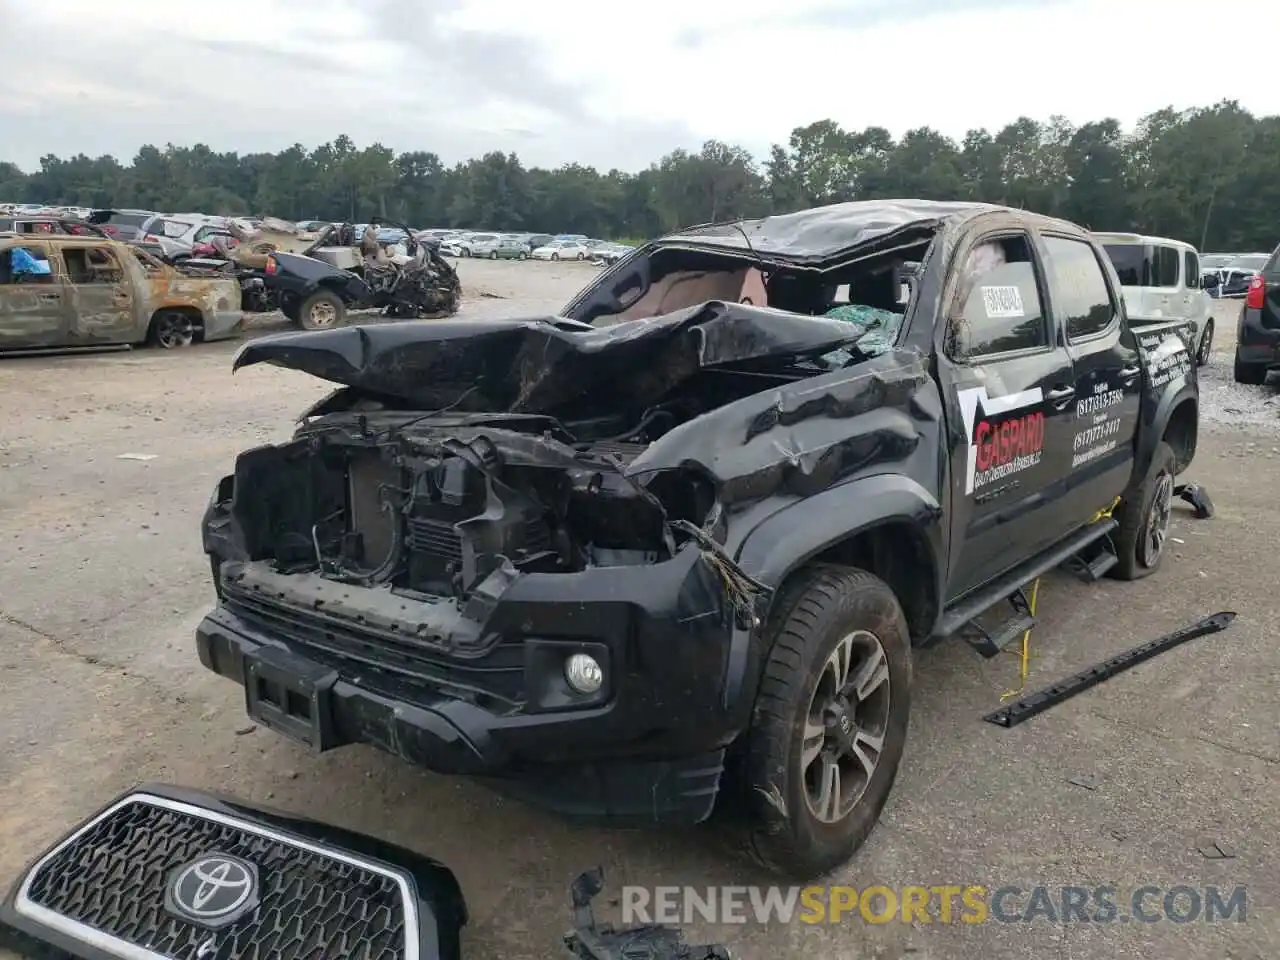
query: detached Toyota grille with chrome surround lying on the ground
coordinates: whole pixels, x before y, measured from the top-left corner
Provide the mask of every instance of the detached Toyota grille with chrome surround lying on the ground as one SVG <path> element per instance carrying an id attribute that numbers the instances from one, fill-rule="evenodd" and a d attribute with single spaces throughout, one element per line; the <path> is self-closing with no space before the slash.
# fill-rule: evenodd
<path id="1" fill-rule="evenodd" d="M 246 865 L 236 877 L 204 877 L 242 882 L 243 897 L 219 904 L 218 891 L 206 901 L 178 892 L 206 858 Z M 457 878 L 435 860 L 238 800 L 146 785 L 23 870 L 0 904 L 0 946 L 82 960 L 458 960 L 466 922 Z"/>

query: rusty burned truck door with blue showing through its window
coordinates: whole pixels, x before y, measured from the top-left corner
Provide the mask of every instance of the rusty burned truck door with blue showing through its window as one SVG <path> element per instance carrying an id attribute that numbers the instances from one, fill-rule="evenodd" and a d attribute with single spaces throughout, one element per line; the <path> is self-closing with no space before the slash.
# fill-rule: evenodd
<path id="1" fill-rule="evenodd" d="M 0 251 L 0 349 L 65 343 L 69 291 L 49 256 L 40 241 Z"/>

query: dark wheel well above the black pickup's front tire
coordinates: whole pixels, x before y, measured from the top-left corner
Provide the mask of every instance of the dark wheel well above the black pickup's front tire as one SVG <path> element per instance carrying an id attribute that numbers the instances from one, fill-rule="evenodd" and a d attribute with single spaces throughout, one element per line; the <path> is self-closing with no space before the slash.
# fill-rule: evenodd
<path id="1" fill-rule="evenodd" d="M 913 524 L 891 521 L 859 531 L 828 547 L 810 562 L 836 563 L 874 573 L 888 584 L 902 605 L 911 640 L 920 643 L 933 632 L 938 618 L 937 571 L 928 540 Z"/>

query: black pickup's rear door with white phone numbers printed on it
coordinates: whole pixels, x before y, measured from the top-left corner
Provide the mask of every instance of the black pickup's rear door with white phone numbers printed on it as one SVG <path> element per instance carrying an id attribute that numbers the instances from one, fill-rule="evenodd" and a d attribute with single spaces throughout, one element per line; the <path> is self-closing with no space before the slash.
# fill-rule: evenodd
<path id="1" fill-rule="evenodd" d="M 1062 506 L 1069 522 L 1083 524 L 1110 507 L 1132 475 L 1140 358 L 1123 323 L 1120 292 L 1093 244 L 1055 234 L 1044 234 L 1042 244 L 1050 312 L 1065 335 L 1075 378 Z"/>

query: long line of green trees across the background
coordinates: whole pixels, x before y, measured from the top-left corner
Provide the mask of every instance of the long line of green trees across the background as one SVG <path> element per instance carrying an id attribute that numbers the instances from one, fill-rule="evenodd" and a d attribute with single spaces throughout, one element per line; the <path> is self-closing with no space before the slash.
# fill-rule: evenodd
<path id="1" fill-rule="evenodd" d="M 1007 204 L 1202 251 L 1270 251 L 1280 241 L 1277 170 L 1280 116 L 1222 101 L 1165 108 L 1129 131 L 1115 119 L 1075 127 L 1021 116 L 960 142 L 929 127 L 895 140 L 882 127 L 818 120 L 763 159 L 712 140 L 639 173 L 526 168 L 500 151 L 447 166 L 430 151 L 361 148 L 347 136 L 278 154 L 148 145 L 128 164 L 49 155 L 24 173 L 0 163 L 0 201 L 646 238 L 845 200 L 919 197 Z"/>

